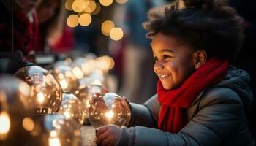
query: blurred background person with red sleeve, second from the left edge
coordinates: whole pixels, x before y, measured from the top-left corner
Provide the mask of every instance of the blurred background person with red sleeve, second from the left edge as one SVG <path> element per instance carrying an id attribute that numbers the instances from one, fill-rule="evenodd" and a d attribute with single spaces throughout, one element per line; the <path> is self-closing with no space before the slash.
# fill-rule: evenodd
<path id="1" fill-rule="evenodd" d="M 43 0 L 37 7 L 39 43 L 45 53 L 67 53 L 74 47 L 72 29 L 65 23 L 64 0 Z"/>

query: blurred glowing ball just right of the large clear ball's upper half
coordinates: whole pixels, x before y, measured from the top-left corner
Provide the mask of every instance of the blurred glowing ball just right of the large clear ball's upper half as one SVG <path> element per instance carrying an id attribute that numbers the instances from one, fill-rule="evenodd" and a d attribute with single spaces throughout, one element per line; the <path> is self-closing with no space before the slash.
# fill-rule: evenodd
<path id="1" fill-rule="evenodd" d="M 78 79 L 73 74 L 71 67 L 53 66 L 53 69 L 49 69 L 49 72 L 59 81 L 64 91 L 75 93 L 78 88 Z"/>

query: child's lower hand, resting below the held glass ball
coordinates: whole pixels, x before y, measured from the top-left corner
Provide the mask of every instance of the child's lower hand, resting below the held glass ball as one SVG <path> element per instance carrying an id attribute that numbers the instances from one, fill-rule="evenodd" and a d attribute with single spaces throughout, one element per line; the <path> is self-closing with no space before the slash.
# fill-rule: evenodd
<path id="1" fill-rule="evenodd" d="M 96 133 L 97 144 L 102 146 L 113 146 L 121 137 L 121 128 L 110 124 L 108 126 L 103 126 L 99 128 Z"/>

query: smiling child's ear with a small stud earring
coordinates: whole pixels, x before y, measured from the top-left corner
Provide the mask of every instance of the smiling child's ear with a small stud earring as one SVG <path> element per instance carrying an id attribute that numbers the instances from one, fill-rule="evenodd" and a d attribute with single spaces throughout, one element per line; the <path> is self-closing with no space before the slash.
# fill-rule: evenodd
<path id="1" fill-rule="evenodd" d="M 205 50 L 197 50 L 194 53 L 194 66 L 198 69 L 200 66 L 206 63 L 207 53 Z"/>

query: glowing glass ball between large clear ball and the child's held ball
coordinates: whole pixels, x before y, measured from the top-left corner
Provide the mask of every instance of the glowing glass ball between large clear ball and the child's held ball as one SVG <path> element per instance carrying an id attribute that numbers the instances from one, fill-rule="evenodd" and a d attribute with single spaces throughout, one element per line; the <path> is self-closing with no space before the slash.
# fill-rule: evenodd
<path id="1" fill-rule="evenodd" d="M 86 118 L 86 111 L 83 107 L 82 101 L 74 96 L 72 93 L 65 92 L 59 108 L 59 113 L 65 116 L 67 120 L 75 120 L 78 127 L 83 125 Z"/>

